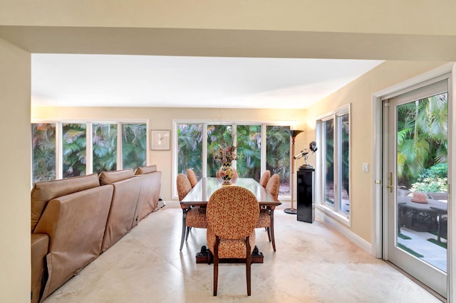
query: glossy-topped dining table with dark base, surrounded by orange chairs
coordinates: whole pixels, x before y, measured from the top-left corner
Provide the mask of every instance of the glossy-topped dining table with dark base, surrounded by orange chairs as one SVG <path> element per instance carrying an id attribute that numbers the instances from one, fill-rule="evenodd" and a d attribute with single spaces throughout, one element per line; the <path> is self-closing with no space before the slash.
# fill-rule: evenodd
<path id="1" fill-rule="evenodd" d="M 281 202 L 274 196 L 266 191 L 266 188 L 261 186 L 253 178 L 236 178 L 232 180 L 232 185 L 222 185 L 221 179 L 216 177 L 203 177 L 200 179 L 197 184 L 192 188 L 192 190 L 187 193 L 187 195 L 180 201 L 180 206 L 182 211 L 186 211 L 188 208 L 195 206 L 207 206 L 210 196 L 217 189 L 222 188 L 222 186 L 242 186 L 247 188 L 249 191 L 254 193 L 255 197 L 258 200 L 260 208 L 269 209 L 269 216 L 271 218 L 271 234 L 274 235 L 274 210 L 276 206 L 281 205 Z M 271 237 L 274 239 L 273 237 Z M 207 262 L 207 248 L 202 247 L 201 252 L 197 253 L 197 263 Z M 229 260 L 227 262 L 230 262 Z M 231 260 L 231 262 L 236 262 Z M 252 255 L 252 262 L 263 262 L 263 255 L 261 252 L 258 252 L 257 248 L 254 250 Z"/>

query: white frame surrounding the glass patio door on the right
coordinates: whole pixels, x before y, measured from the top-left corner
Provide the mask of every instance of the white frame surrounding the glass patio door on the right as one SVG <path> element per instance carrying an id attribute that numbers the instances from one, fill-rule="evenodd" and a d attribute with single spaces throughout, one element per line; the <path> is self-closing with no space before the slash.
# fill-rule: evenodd
<path id="1" fill-rule="evenodd" d="M 448 87 L 448 154 L 454 154 L 453 150 L 456 150 L 456 63 L 447 63 L 430 70 L 427 73 L 418 75 L 409 80 L 405 80 L 402 83 L 393 85 L 391 87 L 385 88 L 378 92 L 374 92 L 372 95 L 372 108 L 373 108 L 373 127 L 372 127 L 372 138 L 373 138 L 373 148 L 372 148 L 372 252 L 371 254 L 375 257 L 382 258 L 386 260 L 388 256 L 383 255 L 382 248 L 382 234 L 383 234 L 383 218 L 382 213 L 385 211 L 382 205 L 382 191 L 383 184 L 382 180 L 382 100 L 385 99 L 385 96 L 399 95 L 402 90 L 405 88 L 412 87 L 414 85 L 419 85 L 421 83 L 427 82 L 432 78 L 439 77 L 451 73 L 451 82 Z M 456 181 L 450 179 L 451 176 L 456 176 L 456 167 L 452 164 L 452 157 L 450 156 L 448 161 L 448 201 L 453 201 L 452 193 L 456 193 Z M 448 252 L 454 252 L 456 245 L 456 233 L 453 228 L 453 222 L 456 222 L 456 213 L 452 211 L 452 203 L 448 203 Z M 447 302 L 456 302 L 456 283 L 452 283 L 453 280 L 456 280 L 456 267 L 455 260 L 456 258 L 452 257 L 452 253 L 448 254 L 447 264 Z"/>

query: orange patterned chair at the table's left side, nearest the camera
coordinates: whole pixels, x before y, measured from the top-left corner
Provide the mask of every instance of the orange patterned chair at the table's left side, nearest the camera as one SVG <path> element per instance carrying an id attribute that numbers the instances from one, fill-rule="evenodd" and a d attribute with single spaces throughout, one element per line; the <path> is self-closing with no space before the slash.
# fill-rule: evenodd
<path id="1" fill-rule="evenodd" d="M 179 195 L 179 201 L 187 196 L 192 190 L 192 185 L 188 180 L 185 174 L 178 174 L 177 175 L 177 194 Z M 207 228 L 207 220 L 206 220 L 206 209 L 200 207 L 192 207 L 192 208 L 182 208 L 182 238 L 180 240 L 180 249 L 182 250 L 182 246 L 184 245 L 184 238 L 187 240 L 188 235 L 190 233 L 190 228 Z"/>

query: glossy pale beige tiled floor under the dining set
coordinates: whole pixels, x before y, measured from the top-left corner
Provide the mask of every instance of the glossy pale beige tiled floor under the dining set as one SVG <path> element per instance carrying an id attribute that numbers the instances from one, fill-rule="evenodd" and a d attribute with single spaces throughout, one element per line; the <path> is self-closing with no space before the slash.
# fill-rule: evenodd
<path id="1" fill-rule="evenodd" d="M 45 303 L 440 302 L 318 220 L 304 223 L 284 213 L 285 206 L 275 213 L 276 252 L 257 229 L 264 263 L 252 265 L 251 297 L 245 266 L 233 264 L 219 266 L 218 296 L 212 296 L 212 265 L 195 263 L 205 230 L 194 228 L 179 252 L 182 211 L 167 203 Z"/>

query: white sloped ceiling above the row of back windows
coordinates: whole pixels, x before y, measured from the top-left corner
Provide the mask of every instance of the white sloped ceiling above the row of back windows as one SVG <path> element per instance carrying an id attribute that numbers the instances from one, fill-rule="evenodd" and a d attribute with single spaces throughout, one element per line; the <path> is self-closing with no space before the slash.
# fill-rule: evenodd
<path id="1" fill-rule="evenodd" d="M 31 103 L 305 109 L 382 62 L 32 54 Z"/>

